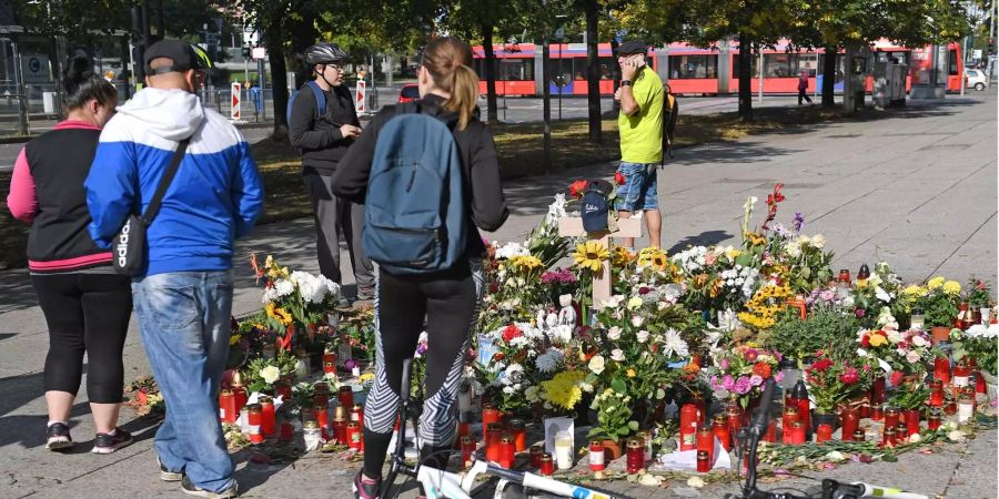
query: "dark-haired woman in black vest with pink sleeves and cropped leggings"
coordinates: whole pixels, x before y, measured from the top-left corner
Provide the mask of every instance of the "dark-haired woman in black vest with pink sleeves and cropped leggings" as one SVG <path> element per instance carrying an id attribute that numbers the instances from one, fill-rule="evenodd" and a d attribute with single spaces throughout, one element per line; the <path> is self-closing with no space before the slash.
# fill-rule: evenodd
<path id="1" fill-rule="evenodd" d="M 114 273 L 111 252 L 90 238 L 83 181 L 101 128 L 114 115 L 118 90 L 74 53 L 63 74 L 67 119 L 29 142 L 14 163 L 7 205 L 31 225 L 28 268 L 49 329 L 46 356 L 46 447 L 72 447 L 69 418 L 83 376 L 97 436 L 95 454 L 132 441 L 118 428 L 124 371 L 121 361 L 132 313 L 130 279 Z"/>

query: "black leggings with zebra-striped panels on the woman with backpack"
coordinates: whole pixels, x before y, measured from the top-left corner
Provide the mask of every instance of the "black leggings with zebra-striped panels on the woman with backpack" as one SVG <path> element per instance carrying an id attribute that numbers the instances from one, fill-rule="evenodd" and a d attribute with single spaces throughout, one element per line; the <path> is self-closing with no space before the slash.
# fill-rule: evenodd
<path id="1" fill-rule="evenodd" d="M 423 330 L 427 333 L 426 398 L 420 419 L 420 440 L 424 452 L 454 441 L 455 398 L 464 353 L 478 317 L 482 283 L 478 261 L 428 275 L 392 275 L 379 271 L 375 381 L 364 406 L 364 475 L 372 478 L 382 475 L 398 411 L 402 364 L 413 357 Z"/>

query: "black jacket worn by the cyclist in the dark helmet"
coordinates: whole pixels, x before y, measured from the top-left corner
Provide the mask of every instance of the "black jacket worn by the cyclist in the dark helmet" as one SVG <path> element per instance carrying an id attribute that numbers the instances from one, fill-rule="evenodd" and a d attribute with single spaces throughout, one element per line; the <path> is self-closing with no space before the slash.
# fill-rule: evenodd
<path id="1" fill-rule="evenodd" d="M 292 102 L 287 135 L 292 145 L 302 152 L 302 166 L 306 171 L 315 169 L 322 175 L 332 175 L 336 164 L 346 153 L 353 139 L 344 139 L 340 126 L 361 126 L 354 110 L 354 98 L 346 85 L 333 86 L 326 94 L 326 113 L 316 120 L 315 95 L 305 88 Z"/>

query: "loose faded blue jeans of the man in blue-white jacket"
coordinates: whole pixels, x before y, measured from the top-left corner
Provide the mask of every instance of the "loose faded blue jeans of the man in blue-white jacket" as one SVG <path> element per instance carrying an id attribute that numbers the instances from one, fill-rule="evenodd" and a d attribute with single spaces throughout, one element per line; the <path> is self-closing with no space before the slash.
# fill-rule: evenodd
<path id="1" fill-rule="evenodd" d="M 132 282 L 145 355 L 167 401 L 155 448 L 168 470 L 220 492 L 232 460 L 219 422 L 219 385 L 232 334 L 232 274 L 175 272 Z"/>

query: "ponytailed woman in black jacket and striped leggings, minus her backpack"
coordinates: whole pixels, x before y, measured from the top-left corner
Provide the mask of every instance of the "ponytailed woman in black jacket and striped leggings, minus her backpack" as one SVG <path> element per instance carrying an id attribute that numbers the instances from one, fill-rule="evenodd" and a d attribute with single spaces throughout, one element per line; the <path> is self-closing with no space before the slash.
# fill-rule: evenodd
<path id="1" fill-rule="evenodd" d="M 476 227 L 496 231 L 508 215 L 496 146 L 478 120 L 478 78 L 468 67 L 471 63 L 472 48 L 467 43 L 450 37 L 431 41 L 417 73 L 420 99 L 412 108 L 382 109 L 340 161 L 333 176 L 334 194 L 363 203 L 379 131 L 402 112 L 434 116 L 452 130 L 461 155 L 468 230 L 464 257 L 446 271 L 393 275 L 385 268 L 379 269 L 375 386 L 364 406 L 364 468 L 354 477 L 353 487 L 360 499 L 380 497 L 382 465 L 398 410 L 402 363 L 413 356 L 423 330 L 432 347 L 426 353 L 421 459 L 443 469 L 446 455 L 436 452 L 451 448 L 455 439 L 455 398 L 483 292 L 485 244 L 476 237 Z"/>

